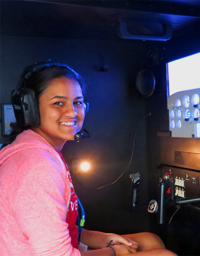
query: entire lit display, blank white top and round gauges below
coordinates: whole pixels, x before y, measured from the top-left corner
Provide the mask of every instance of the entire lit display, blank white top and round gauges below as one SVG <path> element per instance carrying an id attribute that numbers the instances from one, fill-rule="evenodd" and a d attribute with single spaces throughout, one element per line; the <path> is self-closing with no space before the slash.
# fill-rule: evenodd
<path id="1" fill-rule="evenodd" d="M 200 138 L 200 53 L 167 63 L 167 108 L 172 137 Z"/>

